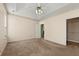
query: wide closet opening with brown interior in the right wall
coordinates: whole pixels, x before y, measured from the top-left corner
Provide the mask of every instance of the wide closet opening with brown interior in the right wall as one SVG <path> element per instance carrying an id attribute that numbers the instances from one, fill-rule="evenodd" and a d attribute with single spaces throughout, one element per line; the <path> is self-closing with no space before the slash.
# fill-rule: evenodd
<path id="1" fill-rule="evenodd" d="M 79 17 L 67 20 L 67 46 L 79 47 Z"/>

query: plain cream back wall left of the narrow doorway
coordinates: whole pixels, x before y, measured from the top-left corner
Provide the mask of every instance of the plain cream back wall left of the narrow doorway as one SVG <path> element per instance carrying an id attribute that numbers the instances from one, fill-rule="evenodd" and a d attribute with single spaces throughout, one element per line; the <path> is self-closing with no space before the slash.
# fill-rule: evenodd
<path id="1" fill-rule="evenodd" d="M 13 42 L 19 40 L 38 38 L 37 25 L 37 21 L 9 14 L 8 41 Z"/>

